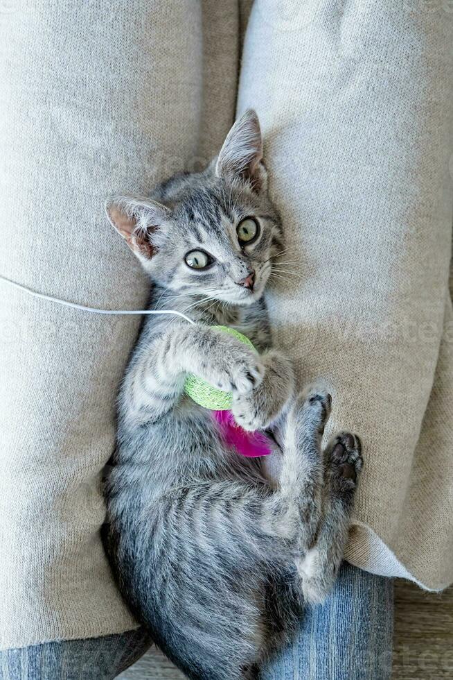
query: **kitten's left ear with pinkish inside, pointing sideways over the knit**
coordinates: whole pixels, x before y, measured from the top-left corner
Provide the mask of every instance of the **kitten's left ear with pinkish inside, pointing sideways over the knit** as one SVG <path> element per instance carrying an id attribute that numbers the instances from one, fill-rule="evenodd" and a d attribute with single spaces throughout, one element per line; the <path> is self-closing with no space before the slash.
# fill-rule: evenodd
<path id="1" fill-rule="evenodd" d="M 148 260 L 157 250 L 154 232 L 171 216 L 168 207 L 141 196 L 112 196 L 105 201 L 105 213 L 131 250 Z"/>

